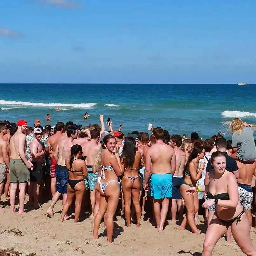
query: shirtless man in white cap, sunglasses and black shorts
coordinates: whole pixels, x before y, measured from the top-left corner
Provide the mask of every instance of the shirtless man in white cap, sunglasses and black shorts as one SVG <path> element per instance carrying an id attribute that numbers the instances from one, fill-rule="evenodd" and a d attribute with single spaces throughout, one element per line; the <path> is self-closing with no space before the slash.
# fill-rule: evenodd
<path id="1" fill-rule="evenodd" d="M 41 208 L 38 202 L 39 198 L 39 188 L 43 180 L 43 159 L 42 156 L 45 155 L 45 151 L 42 148 L 40 140 L 42 138 L 41 128 L 34 129 L 34 139 L 30 144 L 30 152 L 32 157 L 32 164 L 34 166 L 33 171 L 30 171 L 30 184 L 28 189 L 29 194 L 29 205 L 34 205 L 35 209 Z"/>

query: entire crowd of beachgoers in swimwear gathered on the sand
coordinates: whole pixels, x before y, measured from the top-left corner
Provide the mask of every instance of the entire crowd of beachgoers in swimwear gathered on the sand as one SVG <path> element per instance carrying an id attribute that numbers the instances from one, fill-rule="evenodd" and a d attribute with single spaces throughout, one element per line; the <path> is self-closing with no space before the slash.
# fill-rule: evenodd
<path id="1" fill-rule="evenodd" d="M 196 225 L 200 201 L 205 209 L 208 228 L 203 256 L 212 255 L 214 246 L 226 233 L 231 234 L 246 255 L 256 255 L 250 239 L 253 196 L 255 196 L 256 125 L 235 118 L 229 129 L 232 140 L 219 132 L 203 141 L 192 132 L 169 135 L 161 127 L 149 133 L 133 131 L 125 135 L 122 125 L 113 130 L 110 118 L 107 131 L 100 115 L 100 125 L 82 128 L 69 121 L 53 127 L 35 120 L 29 127 L 25 120 L 0 121 L 0 199 L 4 188 L 10 196 L 11 212 L 20 215 L 26 207 L 41 208 L 43 198 L 51 198 L 48 217 L 62 197 L 60 221 L 79 221 L 84 204 L 90 205 L 94 220 L 93 239 L 98 238 L 104 220 L 108 243 L 112 243 L 114 216 L 121 201 L 125 224 L 141 226 L 141 215 L 148 203 L 158 232 L 163 232 L 170 218 L 179 230 Z M 90 202 L 86 200 L 90 191 Z M 72 205 L 75 199 L 74 207 Z M 1 207 L 0 207 L 1 208 Z"/>

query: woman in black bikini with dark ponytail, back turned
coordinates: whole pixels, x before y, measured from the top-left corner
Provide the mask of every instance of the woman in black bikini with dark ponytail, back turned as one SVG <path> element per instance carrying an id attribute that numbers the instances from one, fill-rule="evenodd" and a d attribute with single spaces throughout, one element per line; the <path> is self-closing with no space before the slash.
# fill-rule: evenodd
<path id="1" fill-rule="evenodd" d="M 63 221 L 65 215 L 72 204 L 74 196 L 76 196 L 75 201 L 75 223 L 79 219 L 81 212 L 81 203 L 85 191 L 84 176 L 87 177 L 88 170 L 84 160 L 82 160 L 83 152 L 82 147 L 75 144 L 70 149 L 70 158 L 66 158 L 65 165 L 69 172 L 68 178 L 68 193 L 67 201 L 62 209 L 60 221 Z"/>

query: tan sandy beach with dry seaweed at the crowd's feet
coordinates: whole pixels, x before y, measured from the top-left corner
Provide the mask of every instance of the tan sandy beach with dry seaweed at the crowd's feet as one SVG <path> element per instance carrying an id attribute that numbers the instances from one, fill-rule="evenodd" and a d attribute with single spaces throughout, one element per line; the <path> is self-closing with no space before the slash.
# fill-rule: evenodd
<path id="1" fill-rule="evenodd" d="M 4 255 L 201 255 L 204 234 L 196 236 L 189 230 L 178 231 L 178 225 L 168 221 L 163 233 L 152 226 L 147 213 L 142 216 L 141 229 L 132 225 L 125 227 L 121 216 L 114 219 L 114 243 L 107 244 L 106 231 L 102 223 L 99 239 L 92 240 L 93 220 L 88 213 L 83 214 L 81 222 L 74 219 L 59 222 L 62 201 L 55 206 L 54 218 L 50 219 L 45 212 L 49 203 L 44 203 L 39 210 L 27 210 L 27 214 L 19 216 L 11 214 L 9 198 L 2 196 L 0 211 L 1 234 L 0 248 L 12 253 L 0 251 Z M 25 207 L 28 201 L 26 196 Z M 16 205 L 16 209 L 18 205 Z M 197 221 L 199 232 L 205 232 L 203 216 Z M 251 229 L 251 238 L 256 240 L 256 233 Z M 255 243 L 254 243 L 255 245 Z M 35 254 L 33 254 L 35 253 Z M 212 255 L 244 255 L 232 238 L 228 244 L 222 237 Z"/>

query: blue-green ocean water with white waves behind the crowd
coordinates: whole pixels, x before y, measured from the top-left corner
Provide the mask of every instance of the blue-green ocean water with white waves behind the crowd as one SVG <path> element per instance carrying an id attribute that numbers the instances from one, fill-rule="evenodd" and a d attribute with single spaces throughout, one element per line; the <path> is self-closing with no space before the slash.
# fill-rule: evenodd
<path id="1" fill-rule="evenodd" d="M 47 113 L 51 126 L 70 120 L 87 126 L 103 114 L 124 133 L 146 132 L 153 123 L 170 135 L 196 131 L 205 139 L 225 134 L 223 122 L 235 117 L 256 123 L 255 84 L 0 84 L 0 91 L 0 120 L 25 119 L 30 126 L 35 119 L 46 125 Z"/>

